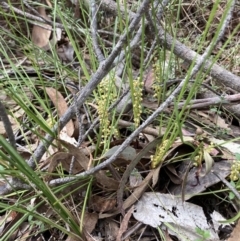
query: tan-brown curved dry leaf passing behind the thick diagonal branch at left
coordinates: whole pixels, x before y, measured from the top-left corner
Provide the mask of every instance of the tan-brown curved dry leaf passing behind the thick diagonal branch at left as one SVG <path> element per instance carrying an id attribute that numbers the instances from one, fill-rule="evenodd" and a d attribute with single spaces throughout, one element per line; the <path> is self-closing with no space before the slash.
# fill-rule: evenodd
<path id="1" fill-rule="evenodd" d="M 54 106 L 56 107 L 58 115 L 60 117 L 63 116 L 68 109 L 68 105 L 65 99 L 63 98 L 62 94 L 56 89 L 50 88 L 50 87 L 46 88 L 45 90 L 49 98 L 53 102 Z M 70 120 L 67 123 L 66 129 L 67 129 L 67 134 L 71 137 L 74 133 L 74 124 L 72 120 Z"/>

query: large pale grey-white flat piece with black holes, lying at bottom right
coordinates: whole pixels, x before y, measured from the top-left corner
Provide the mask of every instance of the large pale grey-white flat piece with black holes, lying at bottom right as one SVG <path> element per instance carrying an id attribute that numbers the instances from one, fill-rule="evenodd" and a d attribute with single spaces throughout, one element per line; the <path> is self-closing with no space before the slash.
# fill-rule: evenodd
<path id="1" fill-rule="evenodd" d="M 197 229 L 207 232 L 207 240 L 219 240 L 217 231 L 219 221 L 225 219 L 220 213 L 213 212 L 210 225 L 202 207 L 192 203 L 182 202 L 181 197 L 170 194 L 146 192 L 135 205 L 133 216 L 138 221 L 154 228 L 168 230 L 179 240 L 193 241 L 202 238 Z"/>

